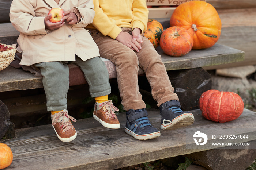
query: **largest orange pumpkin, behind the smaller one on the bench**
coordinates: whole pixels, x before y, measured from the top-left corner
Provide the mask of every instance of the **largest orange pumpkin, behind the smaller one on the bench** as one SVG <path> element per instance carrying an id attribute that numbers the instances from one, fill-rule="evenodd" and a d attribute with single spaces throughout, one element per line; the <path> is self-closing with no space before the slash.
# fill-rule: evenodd
<path id="1" fill-rule="evenodd" d="M 170 18 L 170 26 L 183 27 L 193 35 L 192 49 L 209 48 L 221 35 L 218 12 L 204 1 L 189 1 L 179 5 Z"/>

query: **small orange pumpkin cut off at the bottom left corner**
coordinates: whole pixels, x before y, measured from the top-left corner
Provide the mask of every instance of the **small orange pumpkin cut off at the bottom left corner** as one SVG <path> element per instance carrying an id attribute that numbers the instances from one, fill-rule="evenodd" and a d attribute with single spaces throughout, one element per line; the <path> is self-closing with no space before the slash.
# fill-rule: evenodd
<path id="1" fill-rule="evenodd" d="M 11 165 L 13 159 L 12 151 L 7 144 L 0 143 L 0 169 Z"/>

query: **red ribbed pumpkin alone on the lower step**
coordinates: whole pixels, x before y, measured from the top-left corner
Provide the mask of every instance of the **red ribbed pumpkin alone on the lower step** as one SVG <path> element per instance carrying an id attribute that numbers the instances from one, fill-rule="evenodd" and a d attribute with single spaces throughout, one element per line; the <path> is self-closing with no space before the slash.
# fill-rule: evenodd
<path id="1" fill-rule="evenodd" d="M 237 119 L 244 111 L 242 98 L 234 92 L 208 90 L 199 98 L 202 115 L 219 123 Z"/>

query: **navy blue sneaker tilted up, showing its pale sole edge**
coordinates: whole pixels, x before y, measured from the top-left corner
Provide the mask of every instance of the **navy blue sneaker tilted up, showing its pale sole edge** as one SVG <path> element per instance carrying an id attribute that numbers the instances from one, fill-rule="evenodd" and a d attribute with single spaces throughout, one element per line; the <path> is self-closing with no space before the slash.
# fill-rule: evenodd
<path id="1" fill-rule="evenodd" d="M 162 130 L 178 129 L 186 127 L 194 123 L 194 115 L 189 112 L 183 112 L 180 107 L 180 102 L 177 100 L 167 101 L 160 105 L 160 114 L 162 116 Z"/>

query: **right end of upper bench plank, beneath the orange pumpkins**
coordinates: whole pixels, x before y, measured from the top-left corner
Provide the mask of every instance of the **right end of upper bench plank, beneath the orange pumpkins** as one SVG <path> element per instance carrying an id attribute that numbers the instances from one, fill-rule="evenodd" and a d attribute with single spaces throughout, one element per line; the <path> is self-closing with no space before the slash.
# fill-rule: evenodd
<path id="1" fill-rule="evenodd" d="M 208 49 L 191 50 L 182 57 L 171 57 L 157 47 L 166 70 L 180 70 L 232 63 L 244 60 L 244 51 L 215 44 Z"/>

